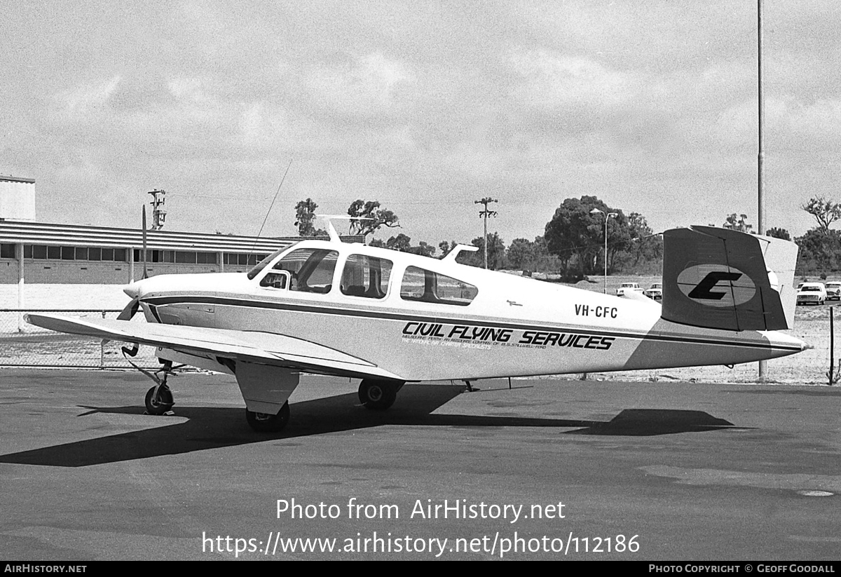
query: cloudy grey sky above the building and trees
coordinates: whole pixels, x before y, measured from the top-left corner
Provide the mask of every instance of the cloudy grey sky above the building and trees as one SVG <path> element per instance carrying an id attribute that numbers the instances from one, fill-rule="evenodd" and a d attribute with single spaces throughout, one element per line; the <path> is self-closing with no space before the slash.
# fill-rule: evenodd
<path id="1" fill-rule="evenodd" d="M 799 236 L 841 201 L 841 3 L 763 23 L 766 226 Z M 12 2 L 0 174 L 70 224 L 139 228 L 162 188 L 166 230 L 241 235 L 297 234 L 307 198 L 433 246 L 480 236 L 487 196 L 506 245 L 583 195 L 755 226 L 757 63 L 748 1 Z"/>

